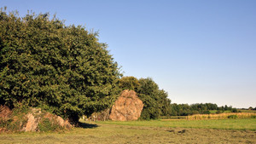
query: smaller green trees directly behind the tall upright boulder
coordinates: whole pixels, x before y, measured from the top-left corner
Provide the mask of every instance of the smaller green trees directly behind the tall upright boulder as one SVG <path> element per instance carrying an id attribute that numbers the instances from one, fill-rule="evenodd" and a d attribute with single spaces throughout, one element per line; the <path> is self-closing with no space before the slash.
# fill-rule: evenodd
<path id="1" fill-rule="evenodd" d="M 167 93 L 154 83 L 152 78 L 123 77 L 119 79 L 120 89 L 132 89 L 143 101 L 144 107 L 141 119 L 155 119 L 171 114 L 171 100 Z"/>

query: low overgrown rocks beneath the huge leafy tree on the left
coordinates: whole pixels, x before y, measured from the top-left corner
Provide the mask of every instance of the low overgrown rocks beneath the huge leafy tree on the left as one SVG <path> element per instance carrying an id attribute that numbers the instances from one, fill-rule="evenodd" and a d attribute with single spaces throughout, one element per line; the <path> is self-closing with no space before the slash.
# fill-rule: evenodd
<path id="1" fill-rule="evenodd" d="M 55 114 L 30 107 L 26 112 L 14 112 L 0 105 L 0 133 L 4 131 L 69 130 L 73 127 L 68 120 Z M 8 125 L 12 125 L 9 127 Z M 9 129 L 12 128 L 12 129 Z"/>

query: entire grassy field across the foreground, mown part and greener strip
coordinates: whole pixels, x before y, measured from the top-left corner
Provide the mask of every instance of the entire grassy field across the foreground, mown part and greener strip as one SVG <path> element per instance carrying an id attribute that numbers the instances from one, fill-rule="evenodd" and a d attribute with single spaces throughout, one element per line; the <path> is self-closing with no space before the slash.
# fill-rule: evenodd
<path id="1" fill-rule="evenodd" d="M 256 119 L 96 122 L 66 132 L 0 134 L 0 143 L 256 143 Z"/>

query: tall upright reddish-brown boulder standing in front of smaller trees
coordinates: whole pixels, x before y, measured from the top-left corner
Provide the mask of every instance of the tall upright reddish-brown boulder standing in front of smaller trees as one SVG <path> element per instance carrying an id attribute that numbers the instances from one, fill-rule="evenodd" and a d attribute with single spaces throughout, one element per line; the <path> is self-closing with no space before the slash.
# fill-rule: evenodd
<path id="1" fill-rule="evenodd" d="M 109 119 L 116 121 L 137 120 L 142 111 L 143 101 L 137 97 L 135 91 L 125 89 L 115 101 Z"/>

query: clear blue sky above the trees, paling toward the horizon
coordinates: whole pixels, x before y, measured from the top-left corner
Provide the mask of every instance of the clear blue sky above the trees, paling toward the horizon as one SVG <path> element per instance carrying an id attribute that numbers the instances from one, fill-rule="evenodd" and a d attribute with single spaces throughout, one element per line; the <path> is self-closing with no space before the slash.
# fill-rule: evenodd
<path id="1" fill-rule="evenodd" d="M 99 31 L 125 76 L 153 78 L 172 103 L 256 107 L 255 0 L 1 0 Z"/>

